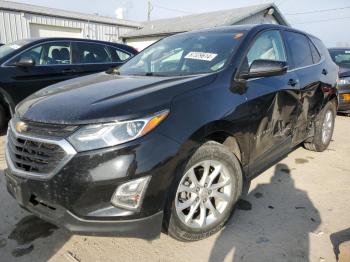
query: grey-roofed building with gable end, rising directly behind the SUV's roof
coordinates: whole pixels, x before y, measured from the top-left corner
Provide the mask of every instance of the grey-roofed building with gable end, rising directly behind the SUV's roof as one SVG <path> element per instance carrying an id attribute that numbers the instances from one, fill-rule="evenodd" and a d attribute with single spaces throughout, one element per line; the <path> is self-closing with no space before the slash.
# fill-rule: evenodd
<path id="1" fill-rule="evenodd" d="M 176 33 L 241 24 L 281 24 L 289 26 L 274 4 L 261 4 L 142 23 L 142 28 L 122 35 L 123 41 L 139 51 L 159 39 Z"/>

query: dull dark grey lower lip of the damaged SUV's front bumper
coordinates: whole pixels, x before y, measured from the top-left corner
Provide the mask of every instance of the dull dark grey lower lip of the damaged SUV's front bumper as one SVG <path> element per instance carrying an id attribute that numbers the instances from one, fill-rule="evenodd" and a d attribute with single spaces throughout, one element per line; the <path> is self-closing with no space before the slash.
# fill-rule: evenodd
<path id="1" fill-rule="evenodd" d="M 160 234 L 163 220 L 162 211 L 148 217 L 130 220 L 83 219 L 63 208 L 55 208 L 53 210 L 51 206 L 41 200 L 34 205 L 31 202 L 32 199 L 26 196 L 28 191 L 26 191 L 25 186 L 21 185 L 19 180 L 9 175 L 8 171 L 5 175 L 8 192 L 19 202 L 22 208 L 48 222 L 66 228 L 72 233 L 116 237 L 138 237 L 143 239 L 155 239 Z"/>

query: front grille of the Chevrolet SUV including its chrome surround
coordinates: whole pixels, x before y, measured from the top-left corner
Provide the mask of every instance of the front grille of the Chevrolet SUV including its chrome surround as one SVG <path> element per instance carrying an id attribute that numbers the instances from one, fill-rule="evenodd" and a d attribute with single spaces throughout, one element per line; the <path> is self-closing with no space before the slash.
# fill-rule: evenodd
<path id="1" fill-rule="evenodd" d="M 20 176 L 48 179 L 58 172 L 76 153 L 62 138 L 45 138 L 17 133 L 13 120 L 7 133 L 6 160 Z"/>

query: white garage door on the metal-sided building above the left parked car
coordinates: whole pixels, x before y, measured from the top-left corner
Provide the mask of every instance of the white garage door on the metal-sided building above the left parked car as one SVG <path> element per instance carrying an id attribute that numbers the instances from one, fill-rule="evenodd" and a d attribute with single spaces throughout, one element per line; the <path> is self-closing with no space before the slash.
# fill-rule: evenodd
<path id="1" fill-rule="evenodd" d="M 82 30 L 79 28 L 39 24 L 30 24 L 29 27 L 31 37 L 82 37 Z"/>

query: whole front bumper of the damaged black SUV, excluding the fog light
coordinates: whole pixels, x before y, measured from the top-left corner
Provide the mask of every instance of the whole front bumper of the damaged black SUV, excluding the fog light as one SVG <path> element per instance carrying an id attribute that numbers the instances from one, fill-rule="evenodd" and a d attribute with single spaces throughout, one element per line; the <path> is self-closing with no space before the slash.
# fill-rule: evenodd
<path id="1" fill-rule="evenodd" d="M 151 133 L 125 145 L 78 153 L 48 180 L 20 177 L 8 168 L 7 189 L 24 209 L 74 233 L 153 239 L 161 231 L 178 150 L 176 142 Z M 120 184 L 149 175 L 140 211 L 110 203 Z"/>

